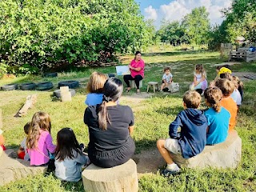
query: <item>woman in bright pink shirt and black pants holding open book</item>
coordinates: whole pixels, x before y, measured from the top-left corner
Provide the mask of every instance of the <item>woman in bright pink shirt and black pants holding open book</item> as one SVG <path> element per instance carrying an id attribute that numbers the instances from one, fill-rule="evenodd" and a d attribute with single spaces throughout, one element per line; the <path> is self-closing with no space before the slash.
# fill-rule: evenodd
<path id="1" fill-rule="evenodd" d="M 123 80 L 127 85 L 127 92 L 130 90 L 130 82 L 129 80 L 134 80 L 137 87 L 137 94 L 140 94 L 139 90 L 139 82 L 144 78 L 144 67 L 145 63 L 142 60 L 142 54 L 139 51 L 136 51 L 135 58 L 130 62 L 130 74 L 126 74 L 123 76 Z"/>

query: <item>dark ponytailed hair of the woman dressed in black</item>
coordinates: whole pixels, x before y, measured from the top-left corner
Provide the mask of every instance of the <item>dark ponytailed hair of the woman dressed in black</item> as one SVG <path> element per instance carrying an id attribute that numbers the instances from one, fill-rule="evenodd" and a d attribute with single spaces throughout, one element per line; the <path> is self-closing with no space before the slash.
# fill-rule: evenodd
<path id="1" fill-rule="evenodd" d="M 109 78 L 104 84 L 102 104 L 98 107 L 98 126 L 102 130 L 106 130 L 107 123 L 110 123 L 110 118 L 106 110 L 106 103 L 117 102 L 121 97 L 122 89 L 122 81 L 118 78 Z"/>

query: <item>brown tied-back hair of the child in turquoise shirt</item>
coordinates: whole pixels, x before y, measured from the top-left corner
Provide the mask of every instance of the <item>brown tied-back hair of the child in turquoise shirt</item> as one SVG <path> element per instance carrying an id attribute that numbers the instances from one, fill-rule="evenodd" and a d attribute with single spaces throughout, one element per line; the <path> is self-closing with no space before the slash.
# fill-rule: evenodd
<path id="1" fill-rule="evenodd" d="M 204 96 L 206 98 L 206 102 L 208 102 L 216 112 L 221 111 L 222 90 L 217 86 L 210 87 L 205 90 Z"/>

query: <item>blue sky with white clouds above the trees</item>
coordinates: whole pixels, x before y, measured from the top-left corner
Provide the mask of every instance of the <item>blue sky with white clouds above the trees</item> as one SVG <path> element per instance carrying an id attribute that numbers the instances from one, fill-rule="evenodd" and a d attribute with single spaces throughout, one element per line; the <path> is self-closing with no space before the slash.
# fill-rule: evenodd
<path id="1" fill-rule="evenodd" d="M 220 10 L 231 6 L 232 0 L 135 0 L 145 19 L 154 19 L 157 28 L 165 18 L 167 21 L 180 21 L 198 6 L 206 6 L 210 13 L 210 23 L 221 24 L 224 18 Z"/>

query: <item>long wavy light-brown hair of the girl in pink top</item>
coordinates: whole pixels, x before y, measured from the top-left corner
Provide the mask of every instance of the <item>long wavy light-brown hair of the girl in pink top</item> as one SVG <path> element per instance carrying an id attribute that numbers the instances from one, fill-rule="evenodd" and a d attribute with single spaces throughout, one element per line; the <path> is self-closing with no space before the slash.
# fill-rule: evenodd
<path id="1" fill-rule="evenodd" d="M 49 114 L 39 111 L 33 115 L 30 122 L 29 134 L 26 139 L 26 146 L 28 149 L 38 147 L 38 139 L 40 137 L 40 130 L 46 130 L 50 133 L 50 116 Z"/>

